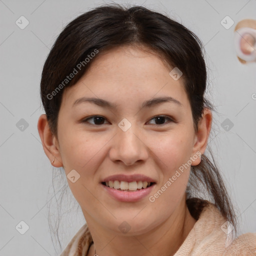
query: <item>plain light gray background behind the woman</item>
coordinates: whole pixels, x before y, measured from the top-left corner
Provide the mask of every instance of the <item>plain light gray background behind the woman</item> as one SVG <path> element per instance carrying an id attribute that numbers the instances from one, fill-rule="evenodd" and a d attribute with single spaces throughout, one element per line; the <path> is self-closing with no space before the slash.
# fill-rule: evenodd
<path id="1" fill-rule="evenodd" d="M 234 200 L 240 223 L 238 234 L 256 232 L 256 100 L 252 98 L 256 93 L 256 63 L 241 64 L 233 42 L 236 23 L 244 18 L 256 19 L 256 0 L 125 2 L 143 3 L 168 14 L 202 40 L 209 68 L 207 95 L 218 111 L 213 112 L 210 145 Z M 47 217 L 50 207 L 52 221 L 56 221 L 52 175 L 61 168 L 51 166 L 37 132 L 37 120 L 43 113 L 40 74 L 61 29 L 77 15 L 102 3 L 0 0 L 0 255 L 56 255 Z M 15 23 L 21 15 L 29 21 L 24 29 Z M 234 21 L 229 29 L 220 23 L 226 15 Z M 28 124 L 23 130 L 21 118 Z M 234 124 L 230 130 L 221 126 L 226 118 Z M 65 176 L 55 184 L 58 198 L 59 189 L 66 185 Z M 76 206 L 67 190 L 59 223 L 63 247 L 84 223 Z M 15 228 L 21 220 L 29 226 L 24 234 Z"/>

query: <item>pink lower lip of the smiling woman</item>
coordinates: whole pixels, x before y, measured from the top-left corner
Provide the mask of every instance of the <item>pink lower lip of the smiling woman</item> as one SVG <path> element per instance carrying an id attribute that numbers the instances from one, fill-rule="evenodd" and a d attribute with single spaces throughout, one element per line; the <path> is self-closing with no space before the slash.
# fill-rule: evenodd
<path id="1" fill-rule="evenodd" d="M 148 195 L 151 190 L 153 189 L 153 186 L 155 183 L 151 186 L 148 186 L 146 188 L 135 190 L 135 191 L 121 191 L 114 188 L 110 188 L 109 186 L 103 185 L 100 183 L 100 185 L 103 186 L 104 189 L 116 200 L 122 201 L 122 202 L 135 202 L 141 200 L 143 197 Z"/>

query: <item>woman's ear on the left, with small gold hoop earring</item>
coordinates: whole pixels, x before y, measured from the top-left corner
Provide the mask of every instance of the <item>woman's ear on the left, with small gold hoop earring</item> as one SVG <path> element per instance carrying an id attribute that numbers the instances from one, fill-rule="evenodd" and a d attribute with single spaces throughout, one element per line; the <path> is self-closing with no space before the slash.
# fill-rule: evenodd
<path id="1" fill-rule="evenodd" d="M 46 114 L 41 114 L 39 116 L 37 122 L 37 129 L 42 141 L 44 153 L 49 158 L 50 162 L 52 162 L 52 160 L 54 159 L 53 163 L 51 164 L 55 167 L 63 166 L 59 152 L 58 141 L 50 131 Z"/>

